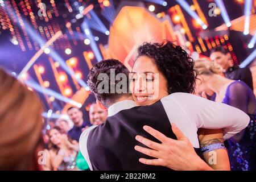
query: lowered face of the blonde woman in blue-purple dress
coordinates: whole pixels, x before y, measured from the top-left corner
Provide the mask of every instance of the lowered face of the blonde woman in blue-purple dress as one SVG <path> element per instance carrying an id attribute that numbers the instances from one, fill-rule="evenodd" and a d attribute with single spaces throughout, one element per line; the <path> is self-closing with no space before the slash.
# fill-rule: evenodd
<path id="1" fill-rule="evenodd" d="M 199 75 L 196 79 L 196 89 L 195 92 L 197 95 L 201 96 L 202 92 L 205 92 L 208 94 L 208 96 L 212 96 L 214 92 L 212 89 L 209 88 L 209 85 L 207 84 L 207 80 L 209 80 L 209 76 L 205 75 Z"/>

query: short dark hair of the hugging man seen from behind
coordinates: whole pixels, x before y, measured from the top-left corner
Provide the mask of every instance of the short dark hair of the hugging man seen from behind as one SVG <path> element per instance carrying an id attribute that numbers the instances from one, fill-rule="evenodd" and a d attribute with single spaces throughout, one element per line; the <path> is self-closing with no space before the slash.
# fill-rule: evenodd
<path id="1" fill-rule="evenodd" d="M 126 85 L 126 93 L 111 93 L 110 89 L 115 88 L 115 86 L 118 84 L 119 81 L 122 80 L 115 80 L 113 82 L 110 80 L 110 70 L 114 69 L 115 75 L 118 73 L 124 73 L 127 78 L 127 85 Z M 98 90 L 98 85 L 102 80 L 98 79 L 98 76 L 100 73 L 105 73 L 108 75 L 109 78 L 109 92 L 108 93 L 101 93 Z M 92 69 L 90 69 L 90 72 L 87 76 L 87 84 L 90 88 L 90 91 L 93 93 L 93 95 L 96 97 L 98 101 L 100 101 L 104 106 L 109 107 L 110 105 L 114 104 L 117 102 L 117 100 L 123 96 L 130 96 L 129 92 L 129 70 L 123 65 L 120 61 L 115 60 L 115 59 L 107 59 L 107 60 L 102 60 L 96 64 L 93 65 Z M 101 88 L 104 89 L 104 88 Z"/>

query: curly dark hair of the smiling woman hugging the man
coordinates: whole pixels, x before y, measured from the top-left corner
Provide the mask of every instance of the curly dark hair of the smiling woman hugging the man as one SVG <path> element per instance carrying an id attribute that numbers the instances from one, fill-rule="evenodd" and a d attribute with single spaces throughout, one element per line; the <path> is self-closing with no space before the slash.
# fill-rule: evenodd
<path id="1" fill-rule="evenodd" d="M 155 60 L 156 67 L 167 78 L 169 94 L 195 92 L 195 61 L 180 46 L 168 40 L 162 43 L 144 43 L 138 48 L 137 59 L 140 56 L 148 56 Z"/>

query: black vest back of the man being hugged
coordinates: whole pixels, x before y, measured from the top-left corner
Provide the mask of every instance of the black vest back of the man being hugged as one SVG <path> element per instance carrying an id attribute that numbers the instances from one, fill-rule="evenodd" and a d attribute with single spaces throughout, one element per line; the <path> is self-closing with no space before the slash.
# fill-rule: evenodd
<path id="1" fill-rule="evenodd" d="M 153 158 L 134 150 L 135 145 L 145 147 L 135 140 L 136 135 L 160 143 L 143 130 L 144 125 L 177 139 L 160 101 L 150 106 L 119 111 L 89 133 L 87 148 L 93 170 L 168 170 L 166 167 L 147 166 L 139 162 L 139 158 Z M 201 156 L 199 148 L 195 150 Z"/>

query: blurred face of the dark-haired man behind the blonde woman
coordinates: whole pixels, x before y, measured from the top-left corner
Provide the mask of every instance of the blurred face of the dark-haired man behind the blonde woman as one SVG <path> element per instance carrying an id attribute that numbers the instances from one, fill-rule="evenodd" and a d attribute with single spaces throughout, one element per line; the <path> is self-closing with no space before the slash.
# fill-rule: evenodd
<path id="1" fill-rule="evenodd" d="M 213 52 L 210 54 L 210 60 L 218 63 L 221 65 L 221 67 L 226 70 L 230 66 L 232 66 L 232 60 L 230 58 L 230 54 L 227 53 L 226 55 L 222 52 Z"/>

